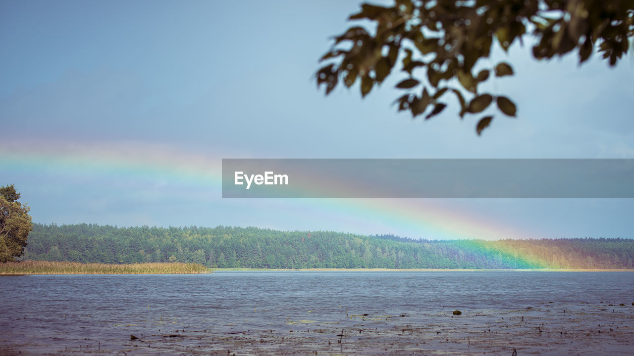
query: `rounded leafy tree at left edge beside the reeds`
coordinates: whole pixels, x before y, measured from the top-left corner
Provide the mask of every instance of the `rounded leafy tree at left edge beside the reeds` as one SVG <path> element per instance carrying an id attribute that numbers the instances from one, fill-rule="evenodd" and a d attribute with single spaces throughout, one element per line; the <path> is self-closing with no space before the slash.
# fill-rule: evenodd
<path id="1" fill-rule="evenodd" d="M 13 184 L 0 187 L 0 262 L 22 255 L 33 228 L 30 208 L 17 201 L 19 198 Z"/>

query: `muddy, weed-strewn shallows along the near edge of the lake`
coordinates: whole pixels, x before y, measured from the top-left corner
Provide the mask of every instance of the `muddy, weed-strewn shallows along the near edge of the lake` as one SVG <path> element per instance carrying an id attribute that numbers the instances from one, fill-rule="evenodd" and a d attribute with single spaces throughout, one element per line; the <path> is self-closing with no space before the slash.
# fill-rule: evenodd
<path id="1" fill-rule="evenodd" d="M 18 335 L 8 331 L 0 343 L 0 353 L 259 356 L 513 355 L 515 351 L 521 356 L 631 355 L 634 350 L 631 303 L 545 303 L 517 310 L 461 312 L 453 315 L 450 307 L 398 315 L 342 310 L 336 321 L 321 320 L 318 314 L 307 312 L 289 316 L 283 329 L 244 329 L 239 321 L 188 327 L 163 319 L 162 332 L 149 331 L 155 329 L 157 321 L 148 321 L 148 333 L 137 332 L 135 340 L 126 333 L 122 340 L 55 338 L 20 343 Z M 126 332 L 126 326 L 113 327 Z"/>

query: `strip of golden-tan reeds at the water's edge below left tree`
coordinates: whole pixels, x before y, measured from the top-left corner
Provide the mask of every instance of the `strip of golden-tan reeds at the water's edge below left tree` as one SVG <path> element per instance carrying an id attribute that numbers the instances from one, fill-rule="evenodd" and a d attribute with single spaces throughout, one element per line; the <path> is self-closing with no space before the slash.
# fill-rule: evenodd
<path id="1" fill-rule="evenodd" d="M 213 269 L 201 264 L 81 264 L 79 262 L 20 261 L 0 264 L 2 274 L 201 274 Z"/>

